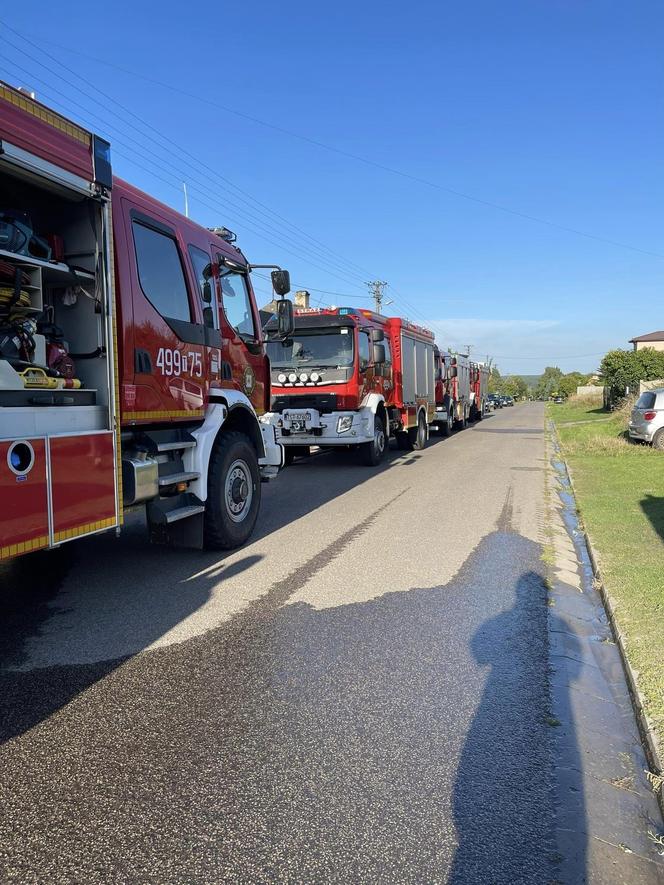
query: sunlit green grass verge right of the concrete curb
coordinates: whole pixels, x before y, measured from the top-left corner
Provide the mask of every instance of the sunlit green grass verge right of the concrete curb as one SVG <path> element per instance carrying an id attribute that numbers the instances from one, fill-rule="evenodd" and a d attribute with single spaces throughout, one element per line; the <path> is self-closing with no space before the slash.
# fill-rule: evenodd
<path id="1" fill-rule="evenodd" d="M 664 752 L 664 454 L 625 438 L 627 414 L 598 422 L 594 409 L 548 406 Z"/>

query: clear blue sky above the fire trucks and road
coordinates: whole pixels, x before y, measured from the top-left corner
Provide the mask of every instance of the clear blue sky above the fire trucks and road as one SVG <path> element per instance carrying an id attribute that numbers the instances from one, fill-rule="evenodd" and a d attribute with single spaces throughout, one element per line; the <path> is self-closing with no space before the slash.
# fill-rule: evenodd
<path id="1" fill-rule="evenodd" d="M 193 218 L 324 303 L 387 280 L 386 312 L 503 373 L 591 370 L 664 327 L 661 3 L 34 0 L 0 20 L 37 44 L 3 28 L 0 78 L 107 134 L 164 202 L 186 180 Z"/>

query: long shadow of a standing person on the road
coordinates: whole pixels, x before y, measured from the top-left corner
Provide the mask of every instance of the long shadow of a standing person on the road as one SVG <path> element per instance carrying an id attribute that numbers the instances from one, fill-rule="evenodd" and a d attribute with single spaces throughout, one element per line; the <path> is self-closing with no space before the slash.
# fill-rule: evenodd
<path id="1" fill-rule="evenodd" d="M 517 581 L 514 606 L 484 621 L 472 638 L 475 660 L 490 670 L 457 770 L 454 817 L 459 846 L 449 878 L 452 885 L 485 881 L 487 870 L 496 885 L 545 881 L 538 872 L 542 862 L 548 861 L 553 870 L 565 860 L 556 847 L 560 821 L 555 818 L 561 811 L 564 826 L 569 828 L 567 843 L 574 853 L 573 878 L 564 881 L 585 881 L 586 815 L 580 751 L 573 729 L 560 740 L 556 731 L 559 720 L 552 707 L 542 706 L 539 679 L 528 675 L 532 655 L 546 667 L 544 605 L 541 575 L 526 572 Z M 565 625 L 552 613 L 549 629 L 565 632 L 568 646 L 573 642 Z M 574 659 L 573 650 L 565 663 L 566 680 L 553 687 L 553 707 L 559 714 L 566 712 L 569 722 L 573 717 L 567 680 L 575 680 L 581 664 Z M 544 758 L 538 740 L 547 744 Z M 550 756 L 553 770 L 547 770 Z M 528 796 L 533 788 L 539 792 L 539 801 Z M 565 793 L 572 801 L 565 801 L 561 808 L 559 797 Z M 534 858 L 534 850 L 539 857 Z M 558 876 L 552 872 L 547 881 L 558 881 Z"/>

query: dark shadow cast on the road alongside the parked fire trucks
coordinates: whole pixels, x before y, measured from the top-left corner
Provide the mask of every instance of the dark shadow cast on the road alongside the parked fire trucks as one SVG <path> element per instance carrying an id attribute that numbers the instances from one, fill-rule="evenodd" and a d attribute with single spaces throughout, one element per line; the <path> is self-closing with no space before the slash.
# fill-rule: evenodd
<path id="1" fill-rule="evenodd" d="M 429 447 L 443 442 L 432 436 Z M 273 486 L 264 487 L 268 506 L 262 508 L 247 555 L 228 565 L 228 556 L 237 557 L 238 551 L 149 545 L 137 515 L 130 516 L 120 540 L 112 534 L 91 537 L 0 565 L 0 744 L 158 641 L 204 606 L 214 588 L 223 592 L 225 580 L 262 558 L 251 553 L 253 543 L 385 470 L 408 467 L 423 456 L 392 448 L 377 468 L 360 465 L 349 451 L 296 461 Z M 270 496 L 278 498 L 277 506 L 269 506 Z M 57 629 L 58 619 L 66 619 L 74 606 L 76 629 L 58 639 L 71 654 L 37 661 L 30 669 L 30 641 L 47 622 L 50 628 L 55 622 Z"/>

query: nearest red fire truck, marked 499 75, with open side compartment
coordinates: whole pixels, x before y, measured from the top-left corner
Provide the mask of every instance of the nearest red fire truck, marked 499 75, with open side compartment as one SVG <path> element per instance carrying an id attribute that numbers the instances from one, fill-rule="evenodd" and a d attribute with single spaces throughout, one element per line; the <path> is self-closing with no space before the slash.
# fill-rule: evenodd
<path id="1" fill-rule="evenodd" d="M 2 83 L 0 184 L 0 559 L 136 506 L 156 539 L 242 544 L 283 449 L 233 236 L 115 179 L 107 142 Z M 283 298 L 278 316 L 288 334 Z"/>

